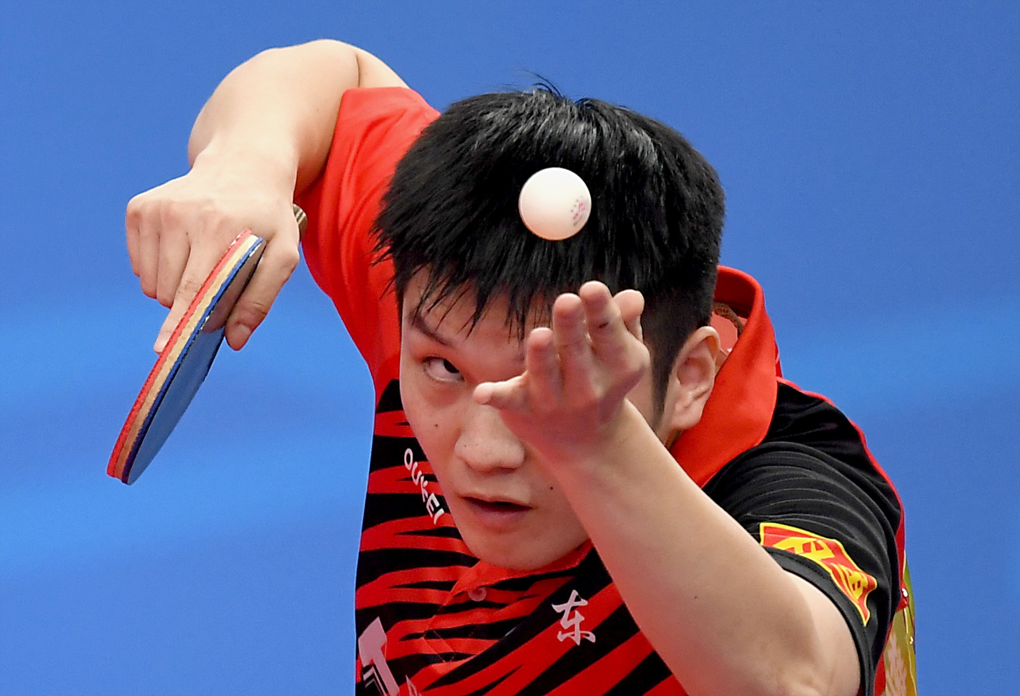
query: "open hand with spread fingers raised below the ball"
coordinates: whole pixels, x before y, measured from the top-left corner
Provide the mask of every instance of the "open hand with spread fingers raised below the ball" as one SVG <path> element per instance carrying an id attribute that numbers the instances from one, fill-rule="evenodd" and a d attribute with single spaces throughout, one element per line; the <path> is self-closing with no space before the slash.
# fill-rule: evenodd
<path id="1" fill-rule="evenodd" d="M 507 427 L 547 460 L 596 453 L 649 370 L 644 308 L 641 292 L 614 297 L 598 281 L 561 295 L 552 327 L 532 329 L 525 339 L 524 372 L 478 384 L 474 399 L 499 409 Z"/>

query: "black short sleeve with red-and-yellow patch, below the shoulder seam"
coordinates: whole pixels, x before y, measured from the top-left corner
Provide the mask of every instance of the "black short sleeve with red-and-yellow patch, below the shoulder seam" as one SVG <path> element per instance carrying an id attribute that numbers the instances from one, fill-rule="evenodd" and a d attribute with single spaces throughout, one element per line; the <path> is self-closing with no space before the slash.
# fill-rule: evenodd
<path id="1" fill-rule="evenodd" d="M 877 472 L 811 446 L 766 442 L 705 487 L 784 570 L 824 592 L 854 636 L 863 693 L 899 602 L 896 496 Z"/>

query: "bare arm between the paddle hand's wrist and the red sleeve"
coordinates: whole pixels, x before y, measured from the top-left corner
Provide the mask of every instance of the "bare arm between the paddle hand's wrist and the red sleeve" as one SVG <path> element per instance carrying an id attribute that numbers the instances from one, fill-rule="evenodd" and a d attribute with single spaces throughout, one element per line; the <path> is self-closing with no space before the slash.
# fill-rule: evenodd
<path id="1" fill-rule="evenodd" d="M 245 159 L 301 192 L 322 170 L 344 92 L 400 84 L 377 58 L 336 41 L 270 49 L 235 68 L 203 107 L 189 160 Z"/>

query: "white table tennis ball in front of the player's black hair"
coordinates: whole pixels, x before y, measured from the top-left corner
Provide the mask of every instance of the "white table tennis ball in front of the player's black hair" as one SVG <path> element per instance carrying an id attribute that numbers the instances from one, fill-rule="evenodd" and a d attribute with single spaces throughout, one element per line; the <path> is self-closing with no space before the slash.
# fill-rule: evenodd
<path id="1" fill-rule="evenodd" d="M 584 179 L 569 169 L 549 167 L 521 186 L 517 210 L 524 226 L 543 239 L 565 239 L 588 222 L 592 194 Z"/>

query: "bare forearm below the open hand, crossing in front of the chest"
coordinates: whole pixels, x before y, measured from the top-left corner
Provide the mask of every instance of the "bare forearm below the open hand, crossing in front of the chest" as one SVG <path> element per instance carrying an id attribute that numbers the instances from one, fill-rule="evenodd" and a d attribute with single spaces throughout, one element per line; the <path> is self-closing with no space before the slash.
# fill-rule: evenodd
<path id="1" fill-rule="evenodd" d="M 557 479 L 658 653 L 692 694 L 830 693 L 795 579 L 624 411 L 620 436 Z"/>

